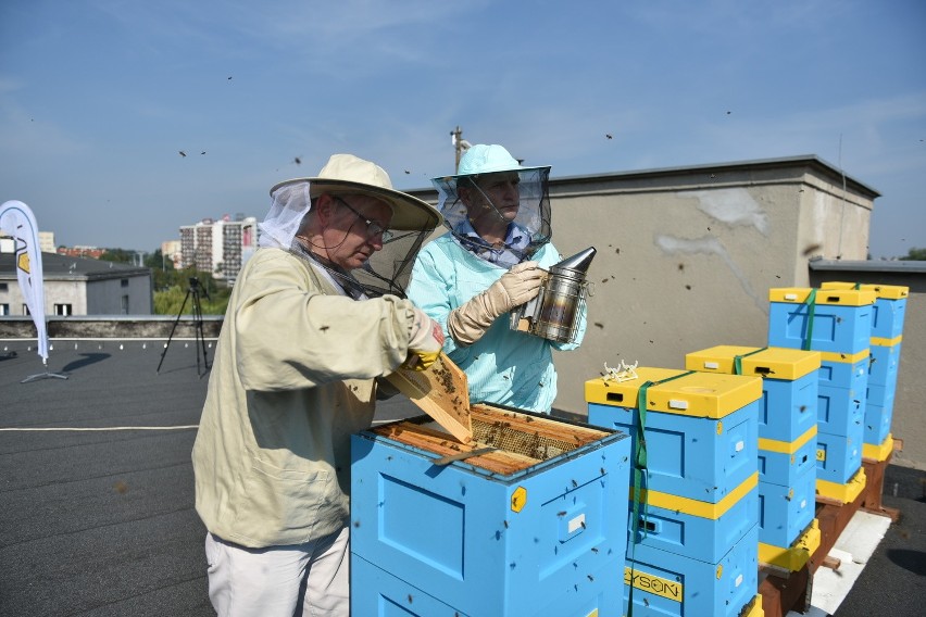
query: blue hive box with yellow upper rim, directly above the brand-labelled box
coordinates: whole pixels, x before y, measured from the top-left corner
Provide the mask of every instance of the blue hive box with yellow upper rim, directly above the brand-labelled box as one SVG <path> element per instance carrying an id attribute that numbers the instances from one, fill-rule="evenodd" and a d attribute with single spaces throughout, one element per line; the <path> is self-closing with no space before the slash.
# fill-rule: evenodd
<path id="1" fill-rule="evenodd" d="M 716 504 L 641 491 L 636 544 L 717 563 L 759 520 L 759 474 Z M 634 503 L 630 493 L 631 542 Z"/>

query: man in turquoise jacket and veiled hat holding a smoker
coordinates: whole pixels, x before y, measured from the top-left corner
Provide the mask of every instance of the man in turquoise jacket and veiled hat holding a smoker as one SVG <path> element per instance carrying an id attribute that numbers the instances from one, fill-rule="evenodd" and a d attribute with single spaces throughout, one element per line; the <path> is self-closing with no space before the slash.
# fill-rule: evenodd
<path id="1" fill-rule="evenodd" d="M 550 413 L 556 398 L 553 342 L 510 327 L 512 308 L 534 299 L 546 268 L 562 260 L 550 242 L 550 167 L 523 167 L 501 146 L 477 144 L 455 176 L 431 179 L 449 231 L 426 244 L 408 297 L 443 328 L 443 351 L 466 373 L 472 402 Z"/>

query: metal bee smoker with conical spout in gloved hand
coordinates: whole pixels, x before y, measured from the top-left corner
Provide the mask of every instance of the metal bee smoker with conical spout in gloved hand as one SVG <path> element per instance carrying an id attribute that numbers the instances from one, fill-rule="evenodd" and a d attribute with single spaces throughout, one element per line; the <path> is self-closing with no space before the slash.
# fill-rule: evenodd
<path id="1" fill-rule="evenodd" d="M 511 329 L 558 342 L 573 342 L 588 294 L 585 280 L 595 247 L 550 266 L 536 298 L 511 312 Z"/>

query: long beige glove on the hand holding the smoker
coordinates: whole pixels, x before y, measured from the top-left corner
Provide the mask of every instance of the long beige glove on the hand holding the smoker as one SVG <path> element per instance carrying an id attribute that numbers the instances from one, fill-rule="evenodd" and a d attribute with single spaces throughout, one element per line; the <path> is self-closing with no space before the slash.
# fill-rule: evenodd
<path id="1" fill-rule="evenodd" d="M 513 266 L 487 290 L 451 311 L 447 330 L 459 344 L 473 344 L 501 315 L 536 298 L 546 277 L 547 272 L 537 262 Z"/>

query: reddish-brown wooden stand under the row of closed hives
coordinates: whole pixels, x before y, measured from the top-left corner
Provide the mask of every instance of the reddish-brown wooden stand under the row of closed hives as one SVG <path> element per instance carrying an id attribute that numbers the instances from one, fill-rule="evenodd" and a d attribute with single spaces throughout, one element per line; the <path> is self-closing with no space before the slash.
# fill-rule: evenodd
<path id="1" fill-rule="evenodd" d="M 894 451 L 902 450 L 903 442 L 894 439 Z M 829 552 L 839 540 L 839 536 L 860 509 L 888 516 L 892 521 L 900 517 L 900 511 L 881 504 L 885 470 L 893 457 L 890 452 L 884 461 L 862 459 L 865 470 L 865 488 L 851 503 L 839 503 L 827 499 L 817 499 L 816 518 L 819 524 L 819 547 L 811 555 L 806 565 L 796 572 L 765 571 L 760 578 L 759 593 L 762 595 L 762 609 L 765 617 L 785 617 L 791 610 L 804 613 L 810 607 L 813 593 L 813 575 L 819 567 L 838 569 L 839 564 L 829 559 Z"/>

